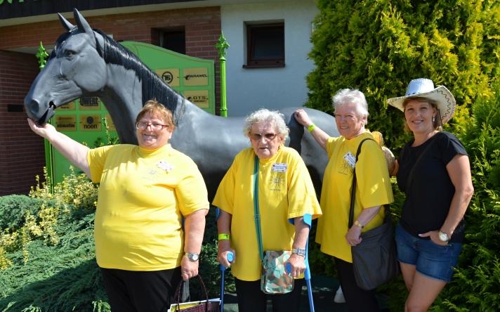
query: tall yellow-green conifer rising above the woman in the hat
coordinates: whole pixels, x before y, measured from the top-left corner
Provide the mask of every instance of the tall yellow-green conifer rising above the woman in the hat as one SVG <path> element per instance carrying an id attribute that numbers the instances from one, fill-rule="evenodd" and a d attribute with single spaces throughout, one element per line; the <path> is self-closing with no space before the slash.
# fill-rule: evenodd
<path id="1" fill-rule="evenodd" d="M 386 99 L 402 96 L 411 79 L 447 86 L 459 108 L 452 131 L 478 96 L 492 96 L 500 74 L 499 1 L 319 0 L 308 74 L 307 106 L 332 112 L 338 89 L 357 88 L 369 103 L 371 130 L 390 148 L 407 141 L 403 115 Z"/>

